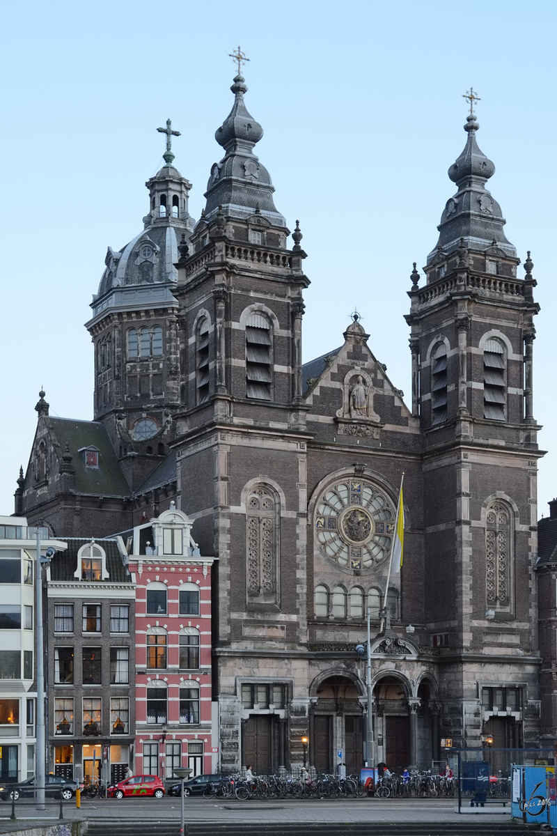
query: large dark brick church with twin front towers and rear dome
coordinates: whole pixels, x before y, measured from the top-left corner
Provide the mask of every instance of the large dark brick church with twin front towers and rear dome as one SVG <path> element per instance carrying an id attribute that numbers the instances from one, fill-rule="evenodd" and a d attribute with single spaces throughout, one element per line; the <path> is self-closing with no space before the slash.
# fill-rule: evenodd
<path id="1" fill-rule="evenodd" d="M 218 558 L 223 770 L 299 765 L 305 735 L 318 770 L 362 765 L 368 608 L 377 761 L 429 766 L 442 737 L 536 746 L 539 306 L 475 115 L 426 282 L 411 276 L 407 405 L 357 316 L 302 364 L 300 228 L 254 153 L 241 74 L 231 90 L 198 222 L 168 126 L 144 228 L 109 248 L 91 306 L 94 420 L 50 417 L 41 393 L 16 512 L 58 537 L 122 532 L 170 502 L 193 521 Z M 385 600 L 403 472 L 404 563 Z"/>

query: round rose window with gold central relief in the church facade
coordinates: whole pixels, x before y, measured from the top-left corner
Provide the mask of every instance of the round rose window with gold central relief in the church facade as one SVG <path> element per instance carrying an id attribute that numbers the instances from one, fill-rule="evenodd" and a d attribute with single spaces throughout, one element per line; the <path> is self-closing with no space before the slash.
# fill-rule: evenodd
<path id="1" fill-rule="evenodd" d="M 325 557 L 349 569 L 371 569 L 389 556 L 394 530 L 392 502 L 362 479 L 342 479 L 317 502 L 316 540 Z"/>

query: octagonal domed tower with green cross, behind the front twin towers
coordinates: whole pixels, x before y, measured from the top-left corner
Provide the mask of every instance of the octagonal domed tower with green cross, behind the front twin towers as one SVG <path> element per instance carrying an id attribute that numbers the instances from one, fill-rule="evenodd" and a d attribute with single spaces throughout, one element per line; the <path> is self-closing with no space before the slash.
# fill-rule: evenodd
<path id="1" fill-rule="evenodd" d="M 178 303 L 173 289 L 180 248 L 193 229 L 191 184 L 173 165 L 170 120 L 165 166 L 145 183 L 144 229 L 119 252 L 109 247 L 106 268 L 86 327 L 94 343 L 94 418 L 102 421 L 135 490 L 169 451 L 180 403 Z"/>

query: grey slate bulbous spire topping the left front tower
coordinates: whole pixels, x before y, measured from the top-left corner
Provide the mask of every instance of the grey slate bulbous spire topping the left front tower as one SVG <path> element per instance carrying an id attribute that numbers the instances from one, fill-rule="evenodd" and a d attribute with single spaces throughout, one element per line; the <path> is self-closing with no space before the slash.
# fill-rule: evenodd
<path id="1" fill-rule="evenodd" d="M 215 132 L 215 140 L 225 149 L 225 156 L 210 170 L 205 221 L 210 222 L 222 206 L 225 217 L 246 218 L 258 210 L 275 226 L 286 227 L 273 201 L 271 176 L 253 153 L 263 129 L 246 110 L 244 77 L 236 75 L 230 89 L 235 95 L 232 110 Z"/>

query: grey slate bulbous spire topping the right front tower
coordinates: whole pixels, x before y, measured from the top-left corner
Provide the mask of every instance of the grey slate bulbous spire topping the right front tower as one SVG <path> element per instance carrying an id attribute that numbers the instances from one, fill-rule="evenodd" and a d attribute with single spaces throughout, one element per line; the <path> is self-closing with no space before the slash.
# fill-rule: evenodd
<path id="1" fill-rule="evenodd" d="M 473 113 L 464 125 L 468 139 L 461 155 L 448 169 L 448 176 L 458 186 L 456 195 L 450 197 L 437 227 L 439 239 L 428 255 L 428 264 L 438 258 L 438 252 L 453 252 L 460 246 L 468 250 L 484 252 L 494 244 L 508 256 L 516 257 L 516 250 L 504 235 L 506 223 L 499 203 L 485 188 L 494 175 L 494 163 L 481 151 L 476 142 L 479 124 Z"/>

